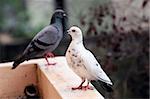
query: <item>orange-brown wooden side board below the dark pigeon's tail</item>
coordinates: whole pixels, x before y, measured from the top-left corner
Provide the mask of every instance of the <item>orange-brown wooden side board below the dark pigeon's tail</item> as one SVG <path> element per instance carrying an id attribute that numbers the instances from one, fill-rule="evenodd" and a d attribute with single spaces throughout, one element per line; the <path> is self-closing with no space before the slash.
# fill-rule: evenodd
<path id="1" fill-rule="evenodd" d="M 0 99 L 18 99 L 24 95 L 27 85 L 37 84 L 34 64 L 18 67 L 15 70 L 11 70 L 10 66 L 8 64 L 0 66 Z"/>

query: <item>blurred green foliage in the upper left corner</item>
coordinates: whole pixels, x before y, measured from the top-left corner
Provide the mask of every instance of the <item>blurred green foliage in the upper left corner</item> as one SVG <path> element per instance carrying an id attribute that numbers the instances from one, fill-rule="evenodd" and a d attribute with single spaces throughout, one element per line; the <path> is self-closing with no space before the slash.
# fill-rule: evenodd
<path id="1" fill-rule="evenodd" d="M 29 38 L 41 29 L 41 26 L 36 29 L 31 27 L 26 0 L 1 0 L 0 6 L 0 32 Z"/>

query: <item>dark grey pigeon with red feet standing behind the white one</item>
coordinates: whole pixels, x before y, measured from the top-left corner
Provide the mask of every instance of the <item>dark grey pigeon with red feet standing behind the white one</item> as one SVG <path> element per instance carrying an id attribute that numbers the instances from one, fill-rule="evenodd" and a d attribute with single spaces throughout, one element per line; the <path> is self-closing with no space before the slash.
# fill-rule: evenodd
<path id="1" fill-rule="evenodd" d="M 52 15 L 50 25 L 42 29 L 29 43 L 23 54 L 14 61 L 12 69 L 20 63 L 35 57 L 53 56 L 51 53 L 59 45 L 65 31 L 66 14 L 63 10 L 56 10 Z M 52 65 L 48 62 L 48 65 Z"/>

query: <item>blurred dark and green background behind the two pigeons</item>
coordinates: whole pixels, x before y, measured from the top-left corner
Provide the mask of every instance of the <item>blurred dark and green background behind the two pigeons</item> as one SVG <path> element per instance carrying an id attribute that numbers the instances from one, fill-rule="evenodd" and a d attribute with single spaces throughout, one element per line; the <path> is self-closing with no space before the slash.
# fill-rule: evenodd
<path id="1" fill-rule="evenodd" d="M 114 83 L 110 99 L 149 98 L 149 0 L 1 0 L 0 62 L 13 61 L 50 23 L 56 8 L 78 25 L 84 43 Z M 70 39 L 54 51 L 64 55 Z M 99 86 L 98 86 L 99 87 Z"/>

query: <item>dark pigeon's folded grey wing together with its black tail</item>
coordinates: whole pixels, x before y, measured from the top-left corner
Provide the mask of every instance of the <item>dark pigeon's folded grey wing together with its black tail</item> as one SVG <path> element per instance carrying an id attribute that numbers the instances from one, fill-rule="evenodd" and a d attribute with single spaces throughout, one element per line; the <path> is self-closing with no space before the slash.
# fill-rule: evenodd
<path id="1" fill-rule="evenodd" d="M 24 53 L 14 61 L 12 69 L 15 69 L 20 63 L 36 56 L 42 56 L 50 47 L 54 46 L 58 39 L 58 30 L 53 26 L 47 26 L 42 29 L 30 42 Z"/>

